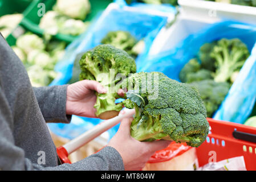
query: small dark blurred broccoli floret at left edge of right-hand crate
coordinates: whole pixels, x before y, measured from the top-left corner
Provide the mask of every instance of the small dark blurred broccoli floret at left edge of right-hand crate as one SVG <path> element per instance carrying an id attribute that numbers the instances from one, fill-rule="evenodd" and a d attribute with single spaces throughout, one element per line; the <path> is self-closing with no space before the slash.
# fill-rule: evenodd
<path id="1" fill-rule="evenodd" d="M 201 65 L 197 59 L 191 59 L 180 71 L 180 80 L 181 82 L 186 82 L 188 80 L 188 75 L 190 73 L 196 73 L 200 70 Z"/>

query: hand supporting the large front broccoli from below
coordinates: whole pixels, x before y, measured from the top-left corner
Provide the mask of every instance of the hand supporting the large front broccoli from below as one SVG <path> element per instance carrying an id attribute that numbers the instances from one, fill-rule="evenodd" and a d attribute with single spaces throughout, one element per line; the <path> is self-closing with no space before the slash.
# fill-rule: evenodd
<path id="1" fill-rule="evenodd" d="M 133 118 L 125 118 L 120 123 L 119 130 L 109 141 L 108 146 L 115 148 L 121 155 L 126 171 L 140 170 L 145 167 L 148 159 L 157 150 L 168 147 L 168 140 L 154 142 L 139 142 L 131 137 L 130 126 Z"/>

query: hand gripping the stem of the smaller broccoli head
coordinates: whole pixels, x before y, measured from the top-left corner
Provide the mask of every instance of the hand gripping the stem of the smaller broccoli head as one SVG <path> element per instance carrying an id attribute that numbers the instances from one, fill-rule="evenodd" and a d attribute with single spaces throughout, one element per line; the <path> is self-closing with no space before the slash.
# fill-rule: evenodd
<path id="1" fill-rule="evenodd" d="M 95 118 L 95 91 L 97 93 L 107 93 L 107 89 L 94 80 L 82 80 L 68 85 L 66 114 Z M 120 89 L 117 94 L 123 97 L 124 91 Z"/>

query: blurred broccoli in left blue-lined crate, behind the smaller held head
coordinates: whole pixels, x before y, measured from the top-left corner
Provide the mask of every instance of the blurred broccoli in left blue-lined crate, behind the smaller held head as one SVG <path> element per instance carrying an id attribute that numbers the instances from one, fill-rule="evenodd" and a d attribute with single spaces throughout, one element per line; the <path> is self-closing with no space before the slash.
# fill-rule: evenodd
<path id="1" fill-rule="evenodd" d="M 133 48 L 138 43 L 128 31 L 109 31 L 107 35 L 101 40 L 101 44 L 110 44 L 118 49 L 122 49 L 130 56 L 135 58 L 139 52 Z"/>

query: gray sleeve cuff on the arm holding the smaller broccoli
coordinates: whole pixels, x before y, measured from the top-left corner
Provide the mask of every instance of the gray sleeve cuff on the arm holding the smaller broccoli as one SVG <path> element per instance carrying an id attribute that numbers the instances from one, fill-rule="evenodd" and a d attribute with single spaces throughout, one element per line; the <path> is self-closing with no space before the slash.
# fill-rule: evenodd
<path id="1" fill-rule="evenodd" d="M 33 88 L 46 122 L 70 123 L 71 115 L 66 114 L 67 86 L 57 85 Z"/>

